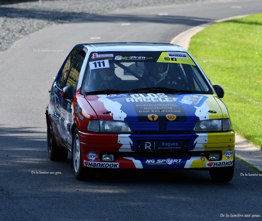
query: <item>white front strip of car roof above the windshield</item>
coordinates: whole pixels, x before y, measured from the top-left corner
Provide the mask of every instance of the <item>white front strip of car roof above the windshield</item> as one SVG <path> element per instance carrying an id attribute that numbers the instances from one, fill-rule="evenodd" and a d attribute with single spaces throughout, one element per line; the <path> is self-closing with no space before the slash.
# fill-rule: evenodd
<path id="1" fill-rule="evenodd" d="M 92 52 L 103 51 L 183 51 L 187 52 L 185 48 L 165 43 L 145 43 L 145 42 L 108 42 L 108 43 L 94 43 L 83 44 L 83 46 Z"/>

